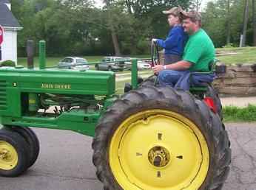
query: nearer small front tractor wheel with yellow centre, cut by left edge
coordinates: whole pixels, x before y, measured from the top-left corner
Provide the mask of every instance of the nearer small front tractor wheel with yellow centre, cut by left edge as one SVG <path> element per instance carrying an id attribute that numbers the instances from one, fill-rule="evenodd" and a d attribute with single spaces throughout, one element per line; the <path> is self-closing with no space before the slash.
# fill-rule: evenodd
<path id="1" fill-rule="evenodd" d="M 0 130 L 0 176 L 16 177 L 26 171 L 29 147 L 18 133 Z"/>

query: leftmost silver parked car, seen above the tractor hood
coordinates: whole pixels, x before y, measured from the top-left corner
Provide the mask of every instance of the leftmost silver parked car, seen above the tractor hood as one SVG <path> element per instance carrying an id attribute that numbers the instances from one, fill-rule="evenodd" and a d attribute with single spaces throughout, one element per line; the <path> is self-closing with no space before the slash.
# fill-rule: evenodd
<path id="1" fill-rule="evenodd" d="M 88 70 L 89 66 L 86 65 L 87 60 L 82 57 L 65 57 L 58 63 L 59 68 L 70 68 L 74 70 Z M 81 66 L 75 66 L 76 64 L 85 64 Z"/>

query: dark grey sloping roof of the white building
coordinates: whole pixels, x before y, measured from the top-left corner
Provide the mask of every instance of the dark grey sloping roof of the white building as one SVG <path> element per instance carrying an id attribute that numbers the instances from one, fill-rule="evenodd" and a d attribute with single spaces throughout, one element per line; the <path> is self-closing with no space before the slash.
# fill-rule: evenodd
<path id="1" fill-rule="evenodd" d="M 21 27 L 13 13 L 10 12 L 9 8 L 3 3 L 3 1 L 7 0 L 0 0 L 0 25 L 2 27 Z"/>

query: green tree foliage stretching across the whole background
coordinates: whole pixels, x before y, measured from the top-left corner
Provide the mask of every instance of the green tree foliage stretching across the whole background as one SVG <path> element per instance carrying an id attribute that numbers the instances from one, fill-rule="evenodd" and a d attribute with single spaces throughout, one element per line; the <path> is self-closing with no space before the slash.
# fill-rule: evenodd
<path id="1" fill-rule="evenodd" d="M 18 54 L 24 56 L 28 39 L 47 42 L 50 55 L 145 54 L 151 38 L 165 38 L 169 30 L 163 10 L 180 5 L 198 9 L 201 0 L 10 0 L 13 14 L 23 29 L 18 32 Z M 229 1 L 229 14 L 227 3 Z M 254 1 L 254 0 L 253 0 Z M 250 1 L 251 7 L 252 1 Z M 244 1 L 209 1 L 203 11 L 203 28 L 215 46 L 229 41 L 238 46 L 243 29 Z M 252 45 L 252 10 L 249 12 L 247 45 Z M 116 45 L 116 44 L 115 44 Z"/>

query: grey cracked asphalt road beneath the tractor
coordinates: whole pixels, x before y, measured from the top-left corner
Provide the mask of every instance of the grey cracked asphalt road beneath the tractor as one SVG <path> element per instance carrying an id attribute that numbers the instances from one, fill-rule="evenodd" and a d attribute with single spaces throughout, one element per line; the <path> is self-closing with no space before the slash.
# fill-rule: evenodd
<path id="1" fill-rule="evenodd" d="M 226 124 L 232 168 L 223 190 L 256 190 L 256 123 Z M 1 190 L 101 190 L 92 164 L 92 138 L 61 130 L 35 130 L 41 152 L 16 178 L 0 177 Z"/>

